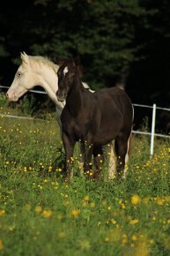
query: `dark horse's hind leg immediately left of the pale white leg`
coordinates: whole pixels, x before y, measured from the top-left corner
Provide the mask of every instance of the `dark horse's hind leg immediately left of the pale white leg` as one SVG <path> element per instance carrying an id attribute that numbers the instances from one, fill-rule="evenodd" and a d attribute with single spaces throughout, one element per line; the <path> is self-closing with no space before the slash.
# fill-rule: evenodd
<path id="1" fill-rule="evenodd" d="M 102 169 L 102 165 L 104 162 L 103 150 L 102 147 L 93 147 L 93 157 L 94 157 L 94 165 L 96 170 L 94 171 L 94 180 L 99 180 L 100 170 Z"/>

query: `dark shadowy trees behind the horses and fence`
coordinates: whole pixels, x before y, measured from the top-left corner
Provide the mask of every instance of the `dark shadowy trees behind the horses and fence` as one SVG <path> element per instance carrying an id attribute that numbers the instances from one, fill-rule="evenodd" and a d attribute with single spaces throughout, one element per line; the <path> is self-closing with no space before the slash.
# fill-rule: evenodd
<path id="1" fill-rule="evenodd" d="M 0 84 L 20 51 L 76 56 L 93 88 L 125 85 L 132 102 L 170 107 L 170 1 L 26 0 L 0 9 Z"/>

